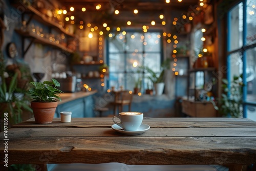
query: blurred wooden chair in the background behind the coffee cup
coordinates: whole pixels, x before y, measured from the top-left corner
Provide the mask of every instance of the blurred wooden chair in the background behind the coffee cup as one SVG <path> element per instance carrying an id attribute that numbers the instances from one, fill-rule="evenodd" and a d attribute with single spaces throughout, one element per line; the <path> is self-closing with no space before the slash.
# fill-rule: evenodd
<path id="1" fill-rule="evenodd" d="M 123 112 L 123 106 L 129 105 L 129 111 L 131 111 L 133 100 L 133 94 L 129 91 L 120 91 L 115 93 L 115 100 L 112 102 L 114 105 L 114 115 L 116 115 L 116 109 L 118 107 L 118 112 Z"/>

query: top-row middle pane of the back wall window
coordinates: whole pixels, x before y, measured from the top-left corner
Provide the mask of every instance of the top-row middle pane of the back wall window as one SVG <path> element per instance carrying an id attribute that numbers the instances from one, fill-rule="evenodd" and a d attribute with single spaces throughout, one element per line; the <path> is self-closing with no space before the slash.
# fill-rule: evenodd
<path id="1" fill-rule="evenodd" d="M 143 34 L 141 33 L 126 33 L 127 45 L 125 50 L 127 52 L 142 52 L 143 51 Z"/>

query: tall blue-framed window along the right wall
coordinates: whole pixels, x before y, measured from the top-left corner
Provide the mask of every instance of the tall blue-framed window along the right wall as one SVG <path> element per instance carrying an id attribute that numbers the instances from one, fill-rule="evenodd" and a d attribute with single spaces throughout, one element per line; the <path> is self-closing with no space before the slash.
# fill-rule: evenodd
<path id="1" fill-rule="evenodd" d="M 256 120 L 256 0 L 228 12 L 228 79 L 243 74 L 244 117 Z"/>

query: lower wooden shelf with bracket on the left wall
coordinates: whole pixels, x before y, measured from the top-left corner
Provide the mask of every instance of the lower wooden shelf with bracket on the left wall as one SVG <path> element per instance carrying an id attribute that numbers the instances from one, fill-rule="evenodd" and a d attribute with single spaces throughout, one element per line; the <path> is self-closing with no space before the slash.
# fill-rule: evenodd
<path id="1" fill-rule="evenodd" d="M 30 42 L 30 45 L 25 50 L 24 54 L 26 54 L 26 52 L 28 51 L 28 49 L 31 46 L 32 42 L 36 42 L 36 43 L 39 43 L 39 44 L 42 44 L 42 45 L 48 45 L 48 46 L 51 46 L 51 47 L 54 47 L 54 48 L 58 48 L 58 49 L 61 49 L 63 51 L 69 52 L 69 53 L 74 53 L 74 51 L 68 49 L 67 47 L 62 46 L 60 44 L 56 44 L 55 42 L 51 42 L 51 41 L 47 40 L 46 38 L 39 37 L 36 34 L 30 33 L 30 32 L 24 32 L 22 30 L 17 30 L 17 29 L 15 29 L 15 31 L 19 35 L 21 35 L 23 37 L 27 37 L 27 38 L 31 38 L 32 39 L 31 42 Z"/>

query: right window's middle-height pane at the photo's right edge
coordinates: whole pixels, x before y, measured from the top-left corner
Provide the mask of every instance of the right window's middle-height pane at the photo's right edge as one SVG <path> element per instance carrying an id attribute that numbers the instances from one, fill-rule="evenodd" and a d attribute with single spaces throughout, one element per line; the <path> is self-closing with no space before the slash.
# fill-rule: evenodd
<path id="1" fill-rule="evenodd" d="M 246 51 L 247 101 L 256 101 L 256 48 Z M 256 115 L 256 114 L 255 114 Z"/>

